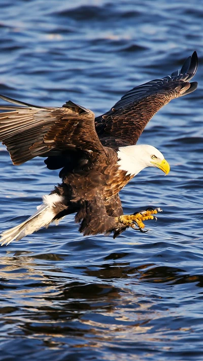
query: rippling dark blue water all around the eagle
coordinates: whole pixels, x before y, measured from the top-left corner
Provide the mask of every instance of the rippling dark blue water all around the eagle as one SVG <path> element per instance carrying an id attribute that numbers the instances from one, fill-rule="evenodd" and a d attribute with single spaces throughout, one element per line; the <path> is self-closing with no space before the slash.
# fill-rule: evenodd
<path id="1" fill-rule="evenodd" d="M 147 234 L 83 238 L 73 217 L 1 248 L 1 360 L 171 361 L 203 357 L 202 45 L 199 0 L 2 0 L 0 91 L 32 104 L 72 101 L 96 115 L 128 89 L 181 67 L 198 89 L 148 124 L 140 143 L 171 164 L 121 192 L 125 213 L 160 206 Z M 1 146 L 1 230 L 58 182 Z"/>

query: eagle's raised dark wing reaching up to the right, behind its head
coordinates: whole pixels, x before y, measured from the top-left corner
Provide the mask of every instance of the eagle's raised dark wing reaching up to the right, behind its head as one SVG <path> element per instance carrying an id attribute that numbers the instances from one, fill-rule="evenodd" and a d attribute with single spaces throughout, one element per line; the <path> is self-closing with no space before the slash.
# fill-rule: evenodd
<path id="1" fill-rule="evenodd" d="M 188 57 L 181 70 L 128 91 L 115 106 L 95 118 L 96 132 L 103 145 L 136 144 L 153 115 L 172 99 L 191 93 L 197 82 L 189 81 L 197 70 L 197 54 Z"/>

